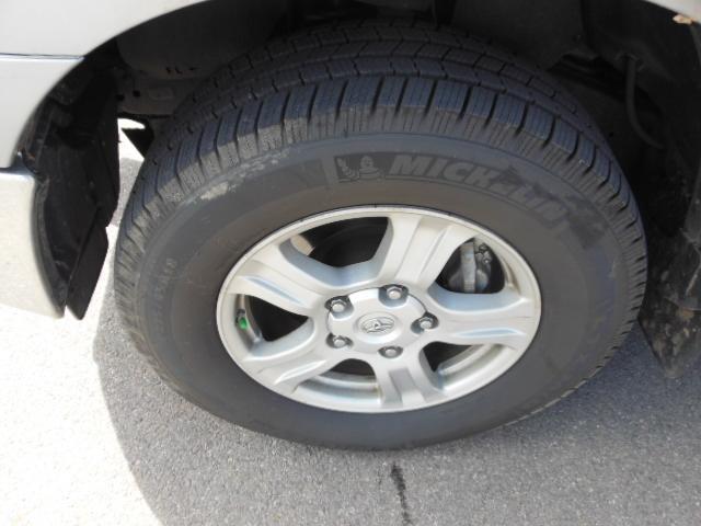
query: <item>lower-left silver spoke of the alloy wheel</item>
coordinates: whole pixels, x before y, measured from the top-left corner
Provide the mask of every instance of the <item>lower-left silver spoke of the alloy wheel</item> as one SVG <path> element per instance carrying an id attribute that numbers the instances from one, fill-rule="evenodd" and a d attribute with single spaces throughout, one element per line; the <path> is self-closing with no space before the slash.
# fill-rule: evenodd
<path id="1" fill-rule="evenodd" d="M 278 389 L 291 392 L 338 364 L 343 355 L 333 351 L 327 347 L 324 334 L 308 320 L 278 340 L 260 341 L 243 363 Z"/>

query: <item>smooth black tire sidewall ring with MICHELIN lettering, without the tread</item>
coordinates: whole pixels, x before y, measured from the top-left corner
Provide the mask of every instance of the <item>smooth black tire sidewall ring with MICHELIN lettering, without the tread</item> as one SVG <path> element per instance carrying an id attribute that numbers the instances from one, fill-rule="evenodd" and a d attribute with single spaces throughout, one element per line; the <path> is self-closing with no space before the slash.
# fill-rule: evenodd
<path id="1" fill-rule="evenodd" d="M 216 304 L 235 262 L 294 221 L 361 205 L 451 214 L 524 256 L 539 282 L 542 317 L 516 365 L 437 407 L 367 414 L 292 401 L 234 364 L 217 331 Z M 349 137 L 264 153 L 188 196 L 149 239 L 137 318 L 161 371 L 222 418 L 307 443 L 413 446 L 515 420 L 589 376 L 629 308 L 623 252 L 589 198 L 513 153 L 428 135 Z"/>

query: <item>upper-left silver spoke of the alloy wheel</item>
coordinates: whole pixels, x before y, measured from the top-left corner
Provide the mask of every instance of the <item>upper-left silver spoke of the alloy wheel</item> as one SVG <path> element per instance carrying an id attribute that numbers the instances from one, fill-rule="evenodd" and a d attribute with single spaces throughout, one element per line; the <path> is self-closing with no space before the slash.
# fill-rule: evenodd
<path id="1" fill-rule="evenodd" d="M 229 290 L 311 316 L 342 286 L 342 279 L 337 268 L 312 260 L 285 242 L 266 247 L 251 258 Z"/>

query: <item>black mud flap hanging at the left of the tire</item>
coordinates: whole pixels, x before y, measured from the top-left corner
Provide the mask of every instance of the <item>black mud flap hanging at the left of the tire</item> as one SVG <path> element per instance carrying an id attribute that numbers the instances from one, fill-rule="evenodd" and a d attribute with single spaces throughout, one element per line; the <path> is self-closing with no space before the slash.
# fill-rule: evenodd
<path id="1" fill-rule="evenodd" d="M 22 158 L 38 182 L 36 228 L 56 305 L 85 315 L 107 253 L 117 204 L 113 80 L 82 64 L 47 96 L 27 130 Z"/>

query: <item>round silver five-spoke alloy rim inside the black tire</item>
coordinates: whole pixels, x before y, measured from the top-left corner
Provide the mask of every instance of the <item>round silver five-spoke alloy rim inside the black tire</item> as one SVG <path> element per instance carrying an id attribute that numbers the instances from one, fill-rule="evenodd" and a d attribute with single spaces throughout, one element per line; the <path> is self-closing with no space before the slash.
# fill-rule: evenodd
<path id="1" fill-rule="evenodd" d="M 374 255 L 338 265 L 313 252 L 319 227 L 353 220 L 384 221 L 374 227 L 383 229 Z M 217 325 L 237 365 L 284 397 L 397 412 L 498 378 L 528 348 L 540 310 L 536 276 L 494 233 L 432 210 L 356 207 L 295 222 L 251 249 L 225 279 Z M 287 332 L 266 334 L 285 318 L 294 320 Z"/>

